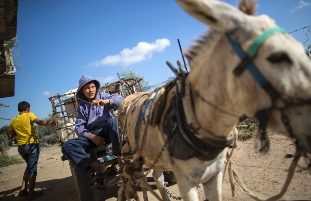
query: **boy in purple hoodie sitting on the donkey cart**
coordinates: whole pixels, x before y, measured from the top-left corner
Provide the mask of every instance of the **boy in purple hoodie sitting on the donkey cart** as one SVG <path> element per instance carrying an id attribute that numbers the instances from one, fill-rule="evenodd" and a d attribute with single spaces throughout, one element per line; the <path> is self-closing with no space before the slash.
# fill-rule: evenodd
<path id="1" fill-rule="evenodd" d="M 67 140 L 62 152 L 83 172 L 90 167 L 96 170 L 91 187 L 104 180 L 107 168 L 99 164 L 86 151 L 105 143 L 112 144 L 112 152 L 118 156 L 119 166 L 123 163 L 118 139 L 117 119 L 110 110 L 118 109 L 124 100 L 121 95 L 99 93 L 100 83 L 93 77 L 83 75 L 79 81 L 77 98 L 82 102 L 77 107 L 75 132 L 80 138 Z M 121 132 L 120 132 L 121 133 Z"/>

